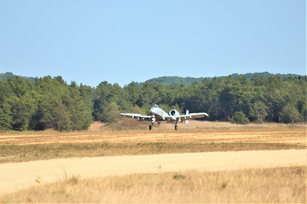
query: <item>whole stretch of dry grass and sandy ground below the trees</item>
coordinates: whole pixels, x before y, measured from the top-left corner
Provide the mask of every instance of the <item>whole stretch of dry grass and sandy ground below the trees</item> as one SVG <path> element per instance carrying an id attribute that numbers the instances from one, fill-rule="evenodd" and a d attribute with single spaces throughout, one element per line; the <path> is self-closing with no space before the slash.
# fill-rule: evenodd
<path id="1" fill-rule="evenodd" d="M 1 203 L 306 203 L 305 124 L 2 131 L 0 156 Z"/>

